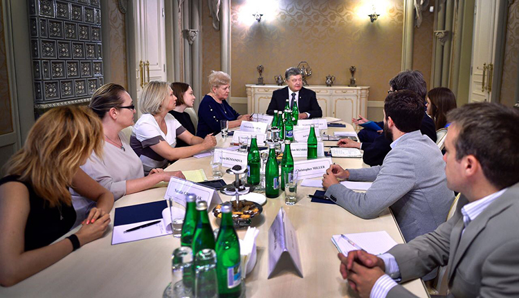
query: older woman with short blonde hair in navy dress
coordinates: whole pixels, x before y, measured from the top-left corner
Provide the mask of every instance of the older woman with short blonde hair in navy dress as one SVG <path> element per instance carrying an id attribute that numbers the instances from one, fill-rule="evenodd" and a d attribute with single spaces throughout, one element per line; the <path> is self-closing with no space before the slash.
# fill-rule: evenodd
<path id="1" fill-rule="evenodd" d="M 228 120 L 229 128 L 239 127 L 242 121 L 250 121 L 251 115 L 239 115 L 226 101 L 229 96 L 230 76 L 223 71 L 211 71 L 209 87 L 211 92 L 203 97 L 198 107 L 197 136 L 221 130 L 220 120 Z"/>

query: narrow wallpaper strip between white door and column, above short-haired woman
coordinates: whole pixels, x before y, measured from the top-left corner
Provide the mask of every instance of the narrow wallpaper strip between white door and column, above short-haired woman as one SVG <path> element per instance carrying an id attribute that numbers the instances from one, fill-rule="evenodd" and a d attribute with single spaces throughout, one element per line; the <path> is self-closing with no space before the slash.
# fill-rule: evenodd
<path id="1" fill-rule="evenodd" d="M 202 94 L 209 93 L 208 76 L 211 71 L 221 70 L 220 59 L 220 31 L 212 28 L 212 19 L 209 14 L 208 1 L 202 1 Z M 233 96 L 236 96 L 233 94 Z M 199 100 L 202 100 L 199 98 Z"/>

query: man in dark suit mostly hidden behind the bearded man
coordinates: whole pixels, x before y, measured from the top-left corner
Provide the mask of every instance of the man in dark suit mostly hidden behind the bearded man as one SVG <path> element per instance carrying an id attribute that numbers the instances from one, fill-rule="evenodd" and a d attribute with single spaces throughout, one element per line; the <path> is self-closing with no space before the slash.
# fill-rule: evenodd
<path id="1" fill-rule="evenodd" d="M 390 90 L 388 93 L 404 89 L 415 91 L 426 102 L 427 83 L 424 80 L 424 75 L 419 71 L 402 71 L 390 80 Z M 359 120 L 352 119 L 352 122 L 354 124 L 363 124 L 368 121 L 361 115 L 359 115 L 359 118 Z M 376 124 L 379 124 L 379 127 L 383 127 L 383 122 L 376 122 Z M 433 142 L 436 142 L 435 122 L 426 114 L 426 111 L 424 111 L 424 120 L 421 122 L 420 131 Z M 391 150 L 391 141 L 385 138 L 384 132 L 382 130 L 362 129 L 358 132 L 358 138 L 361 142 L 354 142 L 349 138 L 344 138 L 339 140 L 337 145 L 345 148 L 363 149 L 363 160 L 367 165 L 372 167 L 382 165 L 385 156 Z"/>

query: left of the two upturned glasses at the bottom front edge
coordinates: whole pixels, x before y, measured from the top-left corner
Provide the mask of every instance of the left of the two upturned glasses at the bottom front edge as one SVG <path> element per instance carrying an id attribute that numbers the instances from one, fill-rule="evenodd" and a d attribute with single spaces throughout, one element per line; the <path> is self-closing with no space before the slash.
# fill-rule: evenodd
<path id="1" fill-rule="evenodd" d="M 163 298 L 193 297 L 193 252 L 182 246 L 173 251 L 171 257 L 172 280 L 163 292 Z"/>

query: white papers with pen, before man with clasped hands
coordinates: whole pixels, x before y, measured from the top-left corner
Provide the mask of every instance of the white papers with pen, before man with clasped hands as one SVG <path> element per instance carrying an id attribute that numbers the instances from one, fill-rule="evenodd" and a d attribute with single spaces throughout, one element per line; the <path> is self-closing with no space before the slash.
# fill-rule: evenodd
<path id="1" fill-rule="evenodd" d="M 383 254 L 397 245 L 397 242 L 385 231 L 334 235 L 331 236 L 331 242 L 345 256 L 352 250 L 365 250 L 370 254 Z"/>

